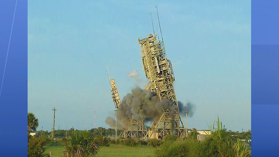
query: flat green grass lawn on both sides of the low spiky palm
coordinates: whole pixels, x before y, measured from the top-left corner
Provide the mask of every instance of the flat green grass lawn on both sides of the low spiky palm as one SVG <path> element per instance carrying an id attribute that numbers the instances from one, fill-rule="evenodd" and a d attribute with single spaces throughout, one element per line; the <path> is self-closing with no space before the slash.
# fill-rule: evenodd
<path id="1" fill-rule="evenodd" d="M 154 157 L 155 149 L 153 147 L 127 147 L 125 145 L 111 145 L 101 147 L 97 157 Z M 46 146 L 45 153 L 51 151 L 53 157 L 61 157 L 64 146 Z"/>

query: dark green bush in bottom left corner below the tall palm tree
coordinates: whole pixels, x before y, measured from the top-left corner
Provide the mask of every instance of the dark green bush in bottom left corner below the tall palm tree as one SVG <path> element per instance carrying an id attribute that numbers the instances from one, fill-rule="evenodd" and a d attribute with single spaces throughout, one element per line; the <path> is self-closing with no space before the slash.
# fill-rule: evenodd
<path id="1" fill-rule="evenodd" d="M 47 143 L 47 138 L 45 137 L 31 137 L 28 135 L 28 157 L 44 157 L 45 148 L 44 145 Z"/>

